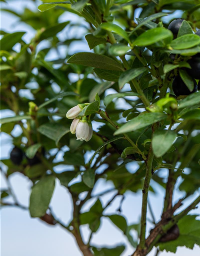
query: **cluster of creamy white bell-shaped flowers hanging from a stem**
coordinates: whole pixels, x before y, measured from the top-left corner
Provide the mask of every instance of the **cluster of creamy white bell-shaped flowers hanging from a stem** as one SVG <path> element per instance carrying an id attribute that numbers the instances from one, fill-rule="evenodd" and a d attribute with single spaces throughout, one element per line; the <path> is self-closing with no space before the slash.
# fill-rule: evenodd
<path id="1" fill-rule="evenodd" d="M 88 120 L 86 116 L 82 118 L 77 118 L 79 113 L 84 108 L 84 104 L 78 104 L 77 106 L 70 108 L 67 112 L 66 117 L 68 119 L 74 119 L 70 126 L 70 132 L 76 134 L 77 140 L 89 141 L 92 138 L 92 122 Z"/>

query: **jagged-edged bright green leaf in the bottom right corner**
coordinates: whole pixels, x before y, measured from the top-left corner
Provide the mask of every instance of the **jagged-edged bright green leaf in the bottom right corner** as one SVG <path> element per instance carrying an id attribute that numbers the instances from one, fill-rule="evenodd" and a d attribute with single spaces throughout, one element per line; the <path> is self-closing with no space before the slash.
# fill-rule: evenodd
<path id="1" fill-rule="evenodd" d="M 196 220 L 196 215 L 184 216 L 178 222 L 180 235 L 176 240 L 159 243 L 161 251 L 176 252 L 178 246 L 186 246 L 193 249 L 195 244 L 200 245 L 200 220 Z"/>

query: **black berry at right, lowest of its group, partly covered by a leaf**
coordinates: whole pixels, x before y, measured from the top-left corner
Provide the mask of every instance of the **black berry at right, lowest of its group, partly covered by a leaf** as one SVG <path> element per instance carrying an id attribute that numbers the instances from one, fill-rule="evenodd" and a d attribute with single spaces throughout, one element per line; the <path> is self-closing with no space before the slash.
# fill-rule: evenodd
<path id="1" fill-rule="evenodd" d="M 176 76 L 172 82 L 172 89 L 176 96 L 189 95 L 197 91 L 197 83 L 194 80 L 194 90 L 190 92 L 180 76 Z"/>

